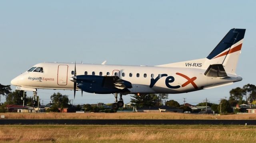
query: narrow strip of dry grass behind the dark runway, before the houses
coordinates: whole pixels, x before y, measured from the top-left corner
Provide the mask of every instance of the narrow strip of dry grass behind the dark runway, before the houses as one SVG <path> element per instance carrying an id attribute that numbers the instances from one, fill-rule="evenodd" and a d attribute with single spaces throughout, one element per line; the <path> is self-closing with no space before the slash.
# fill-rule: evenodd
<path id="1" fill-rule="evenodd" d="M 6 119 L 256 119 L 256 114 L 204 115 L 182 113 L 0 113 Z"/>

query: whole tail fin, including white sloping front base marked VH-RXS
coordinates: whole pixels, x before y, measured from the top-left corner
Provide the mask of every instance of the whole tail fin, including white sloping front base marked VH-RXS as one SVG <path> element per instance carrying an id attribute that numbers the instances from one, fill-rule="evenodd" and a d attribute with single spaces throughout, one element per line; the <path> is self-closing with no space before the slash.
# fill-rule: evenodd
<path id="1" fill-rule="evenodd" d="M 220 75 L 223 77 L 226 75 L 223 74 L 224 72 L 236 75 L 236 65 L 241 53 L 244 33 L 245 29 L 230 29 L 230 31 L 220 41 L 220 43 L 218 43 L 208 57 L 204 59 L 157 65 L 157 67 L 207 69 L 205 75 L 214 77 Z"/>

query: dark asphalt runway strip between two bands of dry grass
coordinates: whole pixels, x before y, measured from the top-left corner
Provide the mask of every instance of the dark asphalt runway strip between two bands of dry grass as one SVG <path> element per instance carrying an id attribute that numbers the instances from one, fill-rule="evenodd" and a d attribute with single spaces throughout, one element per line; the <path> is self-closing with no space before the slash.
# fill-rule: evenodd
<path id="1" fill-rule="evenodd" d="M 212 119 L 0 119 L 0 125 L 256 125 L 256 120 Z"/>

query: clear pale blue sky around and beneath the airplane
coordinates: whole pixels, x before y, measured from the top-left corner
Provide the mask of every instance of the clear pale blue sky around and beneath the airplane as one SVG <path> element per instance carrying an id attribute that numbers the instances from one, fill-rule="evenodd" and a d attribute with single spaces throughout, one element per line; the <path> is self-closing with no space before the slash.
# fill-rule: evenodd
<path id="1" fill-rule="evenodd" d="M 0 83 L 42 62 L 162 65 L 209 55 L 232 28 L 246 29 L 230 86 L 169 94 L 167 100 L 219 103 L 232 88 L 256 84 L 254 0 L 6 0 L 0 1 Z M 11 86 L 15 89 L 15 86 Z M 38 90 L 44 104 L 67 90 Z M 32 92 L 27 92 L 32 96 Z M 130 102 L 130 95 L 123 96 Z M 1 102 L 5 99 L 2 98 Z M 77 92 L 73 104 L 112 103 L 112 94 Z"/>

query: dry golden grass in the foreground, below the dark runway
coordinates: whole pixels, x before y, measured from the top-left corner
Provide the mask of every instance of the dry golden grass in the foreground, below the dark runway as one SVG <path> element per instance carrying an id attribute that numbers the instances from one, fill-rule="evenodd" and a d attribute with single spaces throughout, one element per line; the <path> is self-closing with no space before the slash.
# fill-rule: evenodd
<path id="1" fill-rule="evenodd" d="M 256 142 L 256 126 L 242 125 L 1 125 L 9 143 L 234 143 Z"/>

